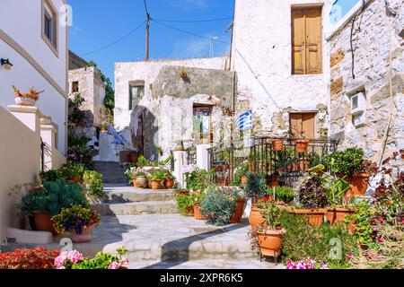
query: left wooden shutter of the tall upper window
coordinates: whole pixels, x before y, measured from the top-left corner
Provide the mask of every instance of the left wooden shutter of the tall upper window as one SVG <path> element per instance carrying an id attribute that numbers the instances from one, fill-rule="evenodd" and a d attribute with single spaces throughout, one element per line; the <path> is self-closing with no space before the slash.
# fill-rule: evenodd
<path id="1" fill-rule="evenodd" d="M 292 10 L 292 74 L 305 74 L 305 22 L 303 9 Z"/>

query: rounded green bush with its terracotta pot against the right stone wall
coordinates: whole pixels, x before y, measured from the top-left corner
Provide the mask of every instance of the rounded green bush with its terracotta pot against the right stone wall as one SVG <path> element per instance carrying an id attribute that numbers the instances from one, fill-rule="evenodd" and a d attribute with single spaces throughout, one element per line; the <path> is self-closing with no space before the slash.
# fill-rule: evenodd
<path id="1" fill-rule="evenodd" d="M 339 177 L 346 178 L 350 184 L 349 196 L 364 196 L 370 172 L 373 169 L 369 161 L 364 161 L 364 151 L 360 148 L 348 148 L 345 151 L 331 152 L 324 157 L 324 163 Z M 372 167 L 372 168 L 371 168 Z"/>

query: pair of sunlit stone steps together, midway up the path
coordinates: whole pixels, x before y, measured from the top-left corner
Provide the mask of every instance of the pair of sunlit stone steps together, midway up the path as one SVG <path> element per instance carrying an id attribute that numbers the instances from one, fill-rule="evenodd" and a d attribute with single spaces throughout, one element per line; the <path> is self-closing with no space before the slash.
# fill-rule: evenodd
<path id="1" fill-rule="evenodd" d="M 177 213 L 172 190 L 105 184 L 104 191 L 104 202 L 92 205 L 103 216 Z"/>

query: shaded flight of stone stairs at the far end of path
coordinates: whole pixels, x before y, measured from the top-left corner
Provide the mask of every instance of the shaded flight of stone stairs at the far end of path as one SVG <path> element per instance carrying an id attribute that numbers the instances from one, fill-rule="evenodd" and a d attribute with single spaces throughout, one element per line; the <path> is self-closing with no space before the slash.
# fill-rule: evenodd
<path id="1" fill-rule="evenodd" d="M 104 184 L 128 185 L 127 168 L 115 161 L 95 161 L 95 170 L 102 174 Z"/>

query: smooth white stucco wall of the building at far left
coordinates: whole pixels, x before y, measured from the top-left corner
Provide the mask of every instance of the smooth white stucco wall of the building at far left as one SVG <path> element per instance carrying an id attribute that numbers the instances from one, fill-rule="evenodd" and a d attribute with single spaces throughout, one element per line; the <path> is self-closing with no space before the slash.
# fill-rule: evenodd
<path id="1" fill-rule="evenodd" d="M 62 0 L 52 0 L 57 10 Z M 14 104 L 11 86 L 15 85 L 22 91 L 28 91 L 32 86 L 37 90 L 45 90 L 40 94 L 37 107 L 44 115 L 52 117 L 58 126 L 57 149 L 65 154 L 66 151 L 66 83 L 67 83 L 67 48 L 66 27 L 58 27 L 58 55 L 48 47 L 41 37 L 41 0 L 2 0 L 6 13 L 0 17 L 0 30 L 16 42 L 24 51 L 17 51 L 0 37 L 0 57 L 9 58 L 13 64 L 10 71 L 0 67 L 0 106 Z M 18 15 L 18 16 L 16 16 Z M 62 13 L 59 13 L 61 16 Z M 22 21 L 23 19 L 23 21 Z M 49 83 L 39 71 L 22 57 L 31 57 L 49 75 L 60 88 Z"/>

